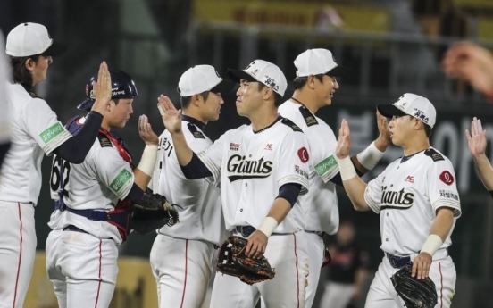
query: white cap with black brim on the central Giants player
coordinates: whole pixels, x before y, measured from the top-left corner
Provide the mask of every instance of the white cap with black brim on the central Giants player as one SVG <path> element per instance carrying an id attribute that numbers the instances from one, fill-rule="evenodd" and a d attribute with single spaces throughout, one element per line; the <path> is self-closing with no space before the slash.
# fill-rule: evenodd
<path id="1" fill-rule="evenodd" d="M 284 96 L 288 87 L 288 81 L 280 68 L 276 64 L 263 60 L 251 62 L 243 71 L 228 69 L 228 77 L 237 83 L 240 79 L 263 83 L 267 87 L 272 87 L 274 92 L 280 96 Z"/>

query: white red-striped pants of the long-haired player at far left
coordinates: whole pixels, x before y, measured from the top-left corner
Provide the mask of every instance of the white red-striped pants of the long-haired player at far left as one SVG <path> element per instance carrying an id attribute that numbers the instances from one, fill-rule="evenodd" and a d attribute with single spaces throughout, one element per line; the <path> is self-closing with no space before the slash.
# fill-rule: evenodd
<path id="1" fill-rule="evenodd" d="M 22 308 L 36 254 L 34 206 L 0 201 L 0 308 Z"/>

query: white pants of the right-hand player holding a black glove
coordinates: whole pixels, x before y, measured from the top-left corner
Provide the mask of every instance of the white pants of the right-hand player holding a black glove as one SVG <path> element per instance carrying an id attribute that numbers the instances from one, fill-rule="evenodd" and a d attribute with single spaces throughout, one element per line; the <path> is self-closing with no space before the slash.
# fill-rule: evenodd
<path id="1" fill-rule="evenodd" d="M 441 251 L 437 252 L 439 254 Z M 437 255 L 435 254 L 435 256 Z M 387 257 L 383 257 L 375 278 L 366 297 L 365 308 L 405 308 L 404 301 L 397 296 L 397 292 L 390 281 L 390 277 L 399 269 L 394 269 Z M 435 283 L 438 304 L 435 308 L 450 308 L 455 293 L 455 264 L 450 256 L 433 260 L 430 266 L 430 279 Z"/>

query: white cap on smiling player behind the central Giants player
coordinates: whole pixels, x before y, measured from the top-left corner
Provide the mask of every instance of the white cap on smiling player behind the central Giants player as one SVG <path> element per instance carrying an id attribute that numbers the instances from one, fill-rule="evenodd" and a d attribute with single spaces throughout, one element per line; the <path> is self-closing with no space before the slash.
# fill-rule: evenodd
<path id="1" fill-rule="evenodd" d="M 330 50 L 323 48 L 308 49 L 295 59 L 297 77 L 327 74 L 334 77 L 347 75 L 349 69 L 338 65 Z"/>

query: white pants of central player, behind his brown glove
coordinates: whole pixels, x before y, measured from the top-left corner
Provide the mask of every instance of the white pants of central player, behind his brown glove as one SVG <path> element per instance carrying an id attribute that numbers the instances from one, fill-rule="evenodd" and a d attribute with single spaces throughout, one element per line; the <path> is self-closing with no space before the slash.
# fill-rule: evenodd
<path id="1" fill-rule="evenodd" d="M 274 279 L 249 286 L 238 277 L 216 272 L 210 307 L 254 308 L 262 296 L 266 308 L 305 308 L 308 275 L 305 232 L 272 235 L 264 255 L 276 270 Z"/>

